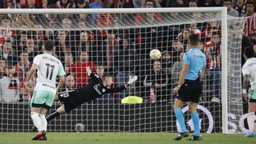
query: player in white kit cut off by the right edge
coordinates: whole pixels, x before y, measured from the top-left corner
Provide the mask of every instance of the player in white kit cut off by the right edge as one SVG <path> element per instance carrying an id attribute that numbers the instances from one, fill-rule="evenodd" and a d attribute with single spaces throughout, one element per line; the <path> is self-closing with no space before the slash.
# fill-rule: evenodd
<path id="1" fill-rule="evenodd" d="M 246 48 L 243 57 L 246 58 L 246 63 L 242 66 L 242 96 L 246 100 L 248 99 L 248 113 L 250 114 L 247 117 L 249 132 L 245 134 L 245 137 L 254 137 L 254 120 L 256 118 L 256 58 L 254 58 L 254 49 L 252 47 Z M 247 94 L 249 82 L 251 90 Z"/>

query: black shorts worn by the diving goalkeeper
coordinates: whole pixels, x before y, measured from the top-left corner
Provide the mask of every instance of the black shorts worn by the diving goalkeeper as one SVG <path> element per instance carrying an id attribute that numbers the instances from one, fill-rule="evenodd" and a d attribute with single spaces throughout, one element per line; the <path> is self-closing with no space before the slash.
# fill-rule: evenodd
<path id="1" fill-rule="evenodd" d="M 64 104 L 65 112 L 69 113 L 71 110 L 74 110 L 82 103 L 78 101 L 76 97 L 77 92 L 74 90 L 64 91 L 59 94 L 59 100 L 62 104 Z"/>

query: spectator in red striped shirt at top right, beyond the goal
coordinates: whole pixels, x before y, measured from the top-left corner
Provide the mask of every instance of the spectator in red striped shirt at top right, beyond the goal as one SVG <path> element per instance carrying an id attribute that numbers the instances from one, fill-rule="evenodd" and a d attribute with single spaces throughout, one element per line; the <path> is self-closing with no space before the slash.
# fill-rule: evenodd
<path id="1" fill-rule="evenodd" d="M 251 42 L 256 44 L 256 14 L 254 12 L 254 2 L 248 1 L 246 3 L 246 25 L 245 25 L 245 35 L 250 38 Z"/>

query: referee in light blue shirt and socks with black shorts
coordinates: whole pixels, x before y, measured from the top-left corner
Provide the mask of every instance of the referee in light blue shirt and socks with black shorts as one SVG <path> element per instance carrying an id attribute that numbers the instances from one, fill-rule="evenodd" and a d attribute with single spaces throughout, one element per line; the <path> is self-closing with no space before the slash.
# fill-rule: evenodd
<path id="1" fill-rule="evenodd" d="M 189 102 L 190 114 L 194 124 L 194 135 L 188 140 L 202 141 L 197 107 L 202 94 L 202 82 L 200 78 L 202 78 L 205 72 L 206 56 L 198 49 L 198 44 L 198 36 L 191 34 L 188 41 L 189 50 L 183 56 L 182 71 L 179 75 L 178 86 L 174 87 L 173 90 L 173 93 L 177 94 L 174 101 L 174 113 L 182 129 L 178 136 L 174 138 L 175 141 L 189 136 L 181 109 L 184 102 Z"/>

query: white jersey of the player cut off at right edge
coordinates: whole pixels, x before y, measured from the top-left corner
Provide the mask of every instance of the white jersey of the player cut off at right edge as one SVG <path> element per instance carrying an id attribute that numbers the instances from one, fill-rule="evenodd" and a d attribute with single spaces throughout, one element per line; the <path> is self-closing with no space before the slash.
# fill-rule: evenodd
<path id="1" fill-rule="evenodd" d="M 256 58 L 249 58 L 242 66 L 242 75 L 249 75 L 251 90 L 256 90 Z"/>

